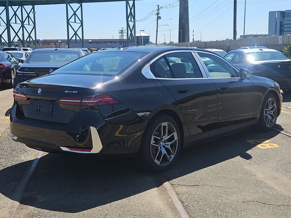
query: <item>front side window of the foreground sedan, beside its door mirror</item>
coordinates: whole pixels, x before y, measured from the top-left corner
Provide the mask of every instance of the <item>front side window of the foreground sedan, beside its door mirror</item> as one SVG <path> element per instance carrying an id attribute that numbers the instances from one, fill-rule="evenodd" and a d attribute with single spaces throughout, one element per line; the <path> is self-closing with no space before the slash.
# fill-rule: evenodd
<path id="1" fill-rule="evenodd" d="M 209 53 L 197 52 L 205 64 L 211 78 L 236 78 L 235 69 L 225 60 Z"/>

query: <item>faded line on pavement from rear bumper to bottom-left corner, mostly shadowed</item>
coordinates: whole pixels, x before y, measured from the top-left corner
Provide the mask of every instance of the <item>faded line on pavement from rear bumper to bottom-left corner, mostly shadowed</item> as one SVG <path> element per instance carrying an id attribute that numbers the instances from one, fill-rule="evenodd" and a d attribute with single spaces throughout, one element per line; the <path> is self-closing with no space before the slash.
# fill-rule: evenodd
<path id="1" fill-rule="evenodd" d="M 33 174 L 33 171 L 35 170 L 36 168 L 36 165 L 40 159 L 42 155 L 42 151 L 38 151 L 37 155 L 36 155 L 36 158 L 33 160 L 32 164 L 31 164 L 31 167 L 30 169 L 26 170 L 25 172 L 27 172 L 26 175 L 24 175 L 24 178 L 23 180 L 20 182 L 20 185 L 17 187 L 17 189 L 14 191 L 13 193 L 13 196 L 12 196 L 12 203 L 10 203 L 10 207 L 9 207 L 9 211 L 8 211 L 8 215 L 6 216 L 7 218 L 13 218 L 14 215 L 15 215 L 15 212 L 17 210 L 17 207 L 19 206 L 19 201 L 21 199 L 21 196 L 31 178 L 31 175 Z"/>

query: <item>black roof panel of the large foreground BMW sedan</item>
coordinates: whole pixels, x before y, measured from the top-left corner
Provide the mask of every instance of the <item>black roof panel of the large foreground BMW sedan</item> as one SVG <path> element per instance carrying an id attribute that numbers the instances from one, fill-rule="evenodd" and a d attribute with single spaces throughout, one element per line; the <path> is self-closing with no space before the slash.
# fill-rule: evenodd
<path id="1" fill-rule="evenodd" d="M 108 50 L 101 50 L 98 52 L 112 52 L 112 51 L 133 51 L 133 52 L 146 52 L 151 53 L 154 51 L 159 50 L 160 52 L 166 51 L 176 51 L 176 50 L 191 50 L 191 51 L 205 51 L 205 49 L 198 49 L 195 47 L 180 47 L 180 46 L 130 46 L 130 47 L 123 47 L 123 49 L 116 48 L 116 49 L 108 49 Z M 210 51 L 211 52 L 211 51 Z"/>

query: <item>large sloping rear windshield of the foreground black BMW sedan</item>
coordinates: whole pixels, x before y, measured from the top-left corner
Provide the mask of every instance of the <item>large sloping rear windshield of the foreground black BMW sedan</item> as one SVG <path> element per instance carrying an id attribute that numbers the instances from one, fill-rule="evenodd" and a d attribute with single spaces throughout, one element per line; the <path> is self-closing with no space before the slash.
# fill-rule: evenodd
<path id="1" fill-rule="evenodd" d="M 54 73 L 93 74 L 115 76 L 123 73 L 128 67 L 144 57 L 142 52 L 95 52 L 69 63 Z"/>

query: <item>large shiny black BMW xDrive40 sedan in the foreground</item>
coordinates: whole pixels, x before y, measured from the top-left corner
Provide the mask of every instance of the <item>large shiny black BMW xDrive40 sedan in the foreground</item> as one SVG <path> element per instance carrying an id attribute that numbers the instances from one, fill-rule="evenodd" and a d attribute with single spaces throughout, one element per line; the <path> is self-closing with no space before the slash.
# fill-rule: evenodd
<path id="1" fill-rule="evenodd" d="M 190 47 L 92 53 L 13 95 L 13 140 L 52 153 L 138 153 L 155 171 L 194 142 L 253 124 L 271 130 L 282 106 L 276 82 Z"/>

